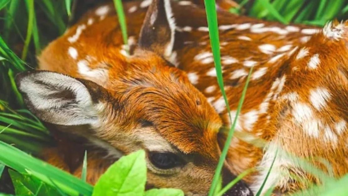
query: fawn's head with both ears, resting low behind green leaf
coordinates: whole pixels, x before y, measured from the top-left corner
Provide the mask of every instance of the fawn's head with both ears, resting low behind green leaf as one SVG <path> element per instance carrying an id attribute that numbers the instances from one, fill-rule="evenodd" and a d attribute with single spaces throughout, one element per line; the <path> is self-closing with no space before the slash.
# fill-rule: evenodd
<path id="1" fill-rule="evenodd" d="M 134 54 L 125 58 L 110 50 L 98 56 L 108 67 L 106 79 L 32 71 L 16 81 L 28 108 L 43 121 L 84 136 L 115 156 L 144 149 L 149 186 L 206 195 L 220 155 L 222 122 L 186 74 L 169 63 L 174 22 L 169 1 L 153 1 Z M 223 181 L 233 178 L 225 168 Z M 242 181 L 228 193 L 250 194 Z"/>

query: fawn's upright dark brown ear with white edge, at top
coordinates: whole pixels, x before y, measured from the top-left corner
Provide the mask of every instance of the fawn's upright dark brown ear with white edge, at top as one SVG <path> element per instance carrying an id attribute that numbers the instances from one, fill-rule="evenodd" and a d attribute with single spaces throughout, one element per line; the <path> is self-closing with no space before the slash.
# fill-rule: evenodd
<path id="1" fill-rule="evenodd" d="M 174 33 L 170 0 L 152 0 L 140 31 L 139 46 L 168 58 L 173 50 Z"/>

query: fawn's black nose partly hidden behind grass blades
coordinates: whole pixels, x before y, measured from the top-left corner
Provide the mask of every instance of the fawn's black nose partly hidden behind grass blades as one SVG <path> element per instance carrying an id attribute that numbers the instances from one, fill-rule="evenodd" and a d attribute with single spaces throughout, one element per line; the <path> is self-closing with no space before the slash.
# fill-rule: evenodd
<path id="1" fill-rule="evenodd" d="M 227 168 L 223 169 L 223 186 L 226 186 L 235 178 L 235 175 L 231 174 Z M 254 194 L 243 180 L 239 180 L 233 187 L 226 191 L 223 196 L 254 196 Z"/>

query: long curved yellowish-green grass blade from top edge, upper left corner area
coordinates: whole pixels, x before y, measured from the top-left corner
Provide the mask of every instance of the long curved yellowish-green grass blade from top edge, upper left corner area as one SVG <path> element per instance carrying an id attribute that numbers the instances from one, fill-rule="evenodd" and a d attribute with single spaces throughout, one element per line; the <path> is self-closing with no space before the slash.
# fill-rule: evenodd
<path id="1" fill-rule="evenodd" d="M 26 59 L 26 55 L 28 52 L 28 47 L 31 40 L 31 35 L 33 32 L 33 24 L 34 24 L 34 0 L 25 0 L 28 10 L 28 26 L 26 30 L 26 37 L 24 41 L 24 47 L 21 59 L 24 61 Z"/>

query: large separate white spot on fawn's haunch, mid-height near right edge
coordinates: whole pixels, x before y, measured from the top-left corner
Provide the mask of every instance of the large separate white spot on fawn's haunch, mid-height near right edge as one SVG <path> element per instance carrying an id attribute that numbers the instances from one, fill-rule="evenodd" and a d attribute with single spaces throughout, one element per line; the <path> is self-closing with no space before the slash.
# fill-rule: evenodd
<path id="1" fill-rule="evenodd" d="M 309 100 L 313 107 L 317 110 L 322 109 L 326 106 L 326 102 L 330 99 L 331 95 L 326 88 L 316 88 L 309 92 Z"/>

